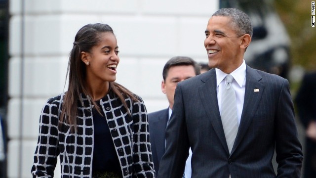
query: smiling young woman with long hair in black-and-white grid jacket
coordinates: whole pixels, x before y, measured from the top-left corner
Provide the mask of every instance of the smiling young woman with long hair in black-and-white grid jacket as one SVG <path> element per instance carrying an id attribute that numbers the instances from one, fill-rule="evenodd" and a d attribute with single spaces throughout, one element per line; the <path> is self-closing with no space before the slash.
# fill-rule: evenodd
<path id="1" fill-rule="evenodd" d="M 33 177 L 154 178 L 147 111 L 142 99 L 115 83 L 117 39 L 105 24 L 83 26 L 68 63 L 69 86 L 40 115 Z"/>

